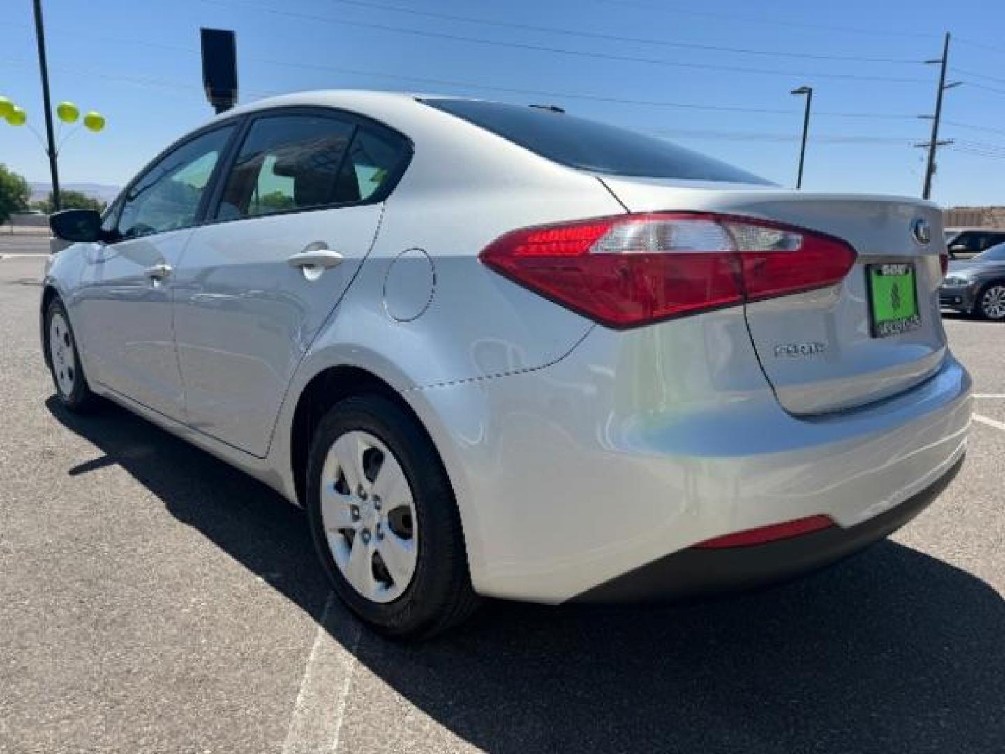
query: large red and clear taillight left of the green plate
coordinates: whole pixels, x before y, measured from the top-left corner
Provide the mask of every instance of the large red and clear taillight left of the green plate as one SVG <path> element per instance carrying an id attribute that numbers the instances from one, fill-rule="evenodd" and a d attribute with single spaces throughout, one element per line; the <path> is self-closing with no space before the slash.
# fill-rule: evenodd
<path id="1" fill-rule="evenodd" d="M 480 258 L 590 319 L 627 328 L 833 286 L 855 251 L 764 220 L 658 212 L 515 230 Z"/>

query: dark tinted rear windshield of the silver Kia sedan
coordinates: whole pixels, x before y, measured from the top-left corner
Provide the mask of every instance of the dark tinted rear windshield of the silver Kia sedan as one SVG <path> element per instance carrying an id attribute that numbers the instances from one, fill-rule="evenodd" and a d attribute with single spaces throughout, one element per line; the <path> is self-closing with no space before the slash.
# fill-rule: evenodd
<path id="1" fill-rule="evenodd" d="M 423 100 L 562 165 L 597 173 L 770 185 L 662 139 L 544 108 L 480 100 Z"/>

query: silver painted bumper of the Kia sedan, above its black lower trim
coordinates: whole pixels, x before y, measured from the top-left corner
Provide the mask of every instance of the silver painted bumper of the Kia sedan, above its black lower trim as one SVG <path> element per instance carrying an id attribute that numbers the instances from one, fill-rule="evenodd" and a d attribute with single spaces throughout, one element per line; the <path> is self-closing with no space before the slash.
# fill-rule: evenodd
<path id="1" fill-rule="evenodd" d="M 595 328 L 551 366 L 408 395 L 450 476 L 475 590 L 551 603 L 736 532 L 882 516 L 957 463 L 972 405 L 947 353 L 898 395 L 793 416 L 739 310 Z"/>

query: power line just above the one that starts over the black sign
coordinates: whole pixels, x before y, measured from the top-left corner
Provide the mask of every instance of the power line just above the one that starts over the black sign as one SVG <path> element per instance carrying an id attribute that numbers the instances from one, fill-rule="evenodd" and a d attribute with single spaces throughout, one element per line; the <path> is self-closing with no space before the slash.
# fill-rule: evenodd
<path id="1" fill-rule="evenodd" d="M 542 26 L 538 24 L 520 23 L 516 21 L 498 21 L 494 19 L 475 18 L 472 16 L 460 16 L 453 13 L 441 13 L 430 10 L 416 10 L 415 8 L 403 8 L 398 5 L 387 5 L 385 3 L 367 2 L 366 0 L 331 0 L 340 5 L 351 5 L 360 8 L 374 8 L 387 10 L 393 13 L 407 13 L 413 16 L 424 18 L 437 18 L 448 21 L 461 21 L 463 23 L 476 23 L 483 26 L 495 26 L 498 28 L 519 29 L 521 31 L 543 31 L 550 34 L 564 34 L 566 36 L 583 37 L 586 39 L 604 39 L 614 42 L 632 42 L 635 44 L 652 44 L 661 47 L 676 47 L 680 49 L 702 50 L 709 52 L 732 52 L 745 55 L 763 55 L 767 57 L 805 58 L 808 60 L 843 60 L 849 62 L 880 62 L 880 63 L 919 63 L 918 58 L 902 57 L 863 57 L 855 55 L 829 55 L 813 52 L 788 52 L 784 50 L 753 49 L 749 47 L 728 47 L 724 45 L 696 44 L 693 42 L 680 42 L 669 39 L 653 39 L 651 37 L 623 36 L 619 34 L 608 34 L 599 31 L 586 31 L 582 29 L 565 29 L 559 26 Z"/>

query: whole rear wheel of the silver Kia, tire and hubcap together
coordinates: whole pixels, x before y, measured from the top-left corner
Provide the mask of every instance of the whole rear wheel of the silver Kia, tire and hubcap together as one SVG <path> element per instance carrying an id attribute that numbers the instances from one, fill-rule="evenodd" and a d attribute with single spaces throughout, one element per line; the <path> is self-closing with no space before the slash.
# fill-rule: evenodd
<path id="1" fill-rule="evenodd" d="M 429 437 L 381 395 L 337 403 L 315 432 L 308 513 L 336 592 L 378 631 L 421 638 L 476 605 L 460 517 Z"/>

